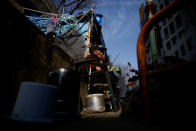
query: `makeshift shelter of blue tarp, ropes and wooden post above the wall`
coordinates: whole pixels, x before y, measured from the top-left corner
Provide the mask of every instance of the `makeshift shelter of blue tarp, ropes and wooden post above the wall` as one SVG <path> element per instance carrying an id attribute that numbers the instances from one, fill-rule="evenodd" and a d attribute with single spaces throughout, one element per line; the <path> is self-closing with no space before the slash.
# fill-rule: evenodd
<path id="1" fill-rule="evenodd" d="M 95 14 L 93 9 L 76 16 L 27 10 L 26 17 L 75 61 L 89 55 L 89 48 L 94 45 L 105 47 L 101 32 L 103 15 Z"/>

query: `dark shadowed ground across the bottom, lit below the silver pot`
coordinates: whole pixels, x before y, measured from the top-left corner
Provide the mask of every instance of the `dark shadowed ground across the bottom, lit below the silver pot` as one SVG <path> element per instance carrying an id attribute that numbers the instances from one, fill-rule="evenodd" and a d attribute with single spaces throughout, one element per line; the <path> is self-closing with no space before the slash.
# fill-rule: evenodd
<path id="1" fill-rule="evenodd" d="M 174 127 L 161 125 L 158 121 L 149 122 L 134 118 L 122 118 L 121 112 L 104 112 L 86 114 L 77 119 L 67 119 L 64 121 L 55 121 L 51 124 L 43 123 L 25 123 L 13 120 L 1 119 L 1 131 L 72 131 L 72 130 L 122 130 L 129 131 L 175 131 Z"/>

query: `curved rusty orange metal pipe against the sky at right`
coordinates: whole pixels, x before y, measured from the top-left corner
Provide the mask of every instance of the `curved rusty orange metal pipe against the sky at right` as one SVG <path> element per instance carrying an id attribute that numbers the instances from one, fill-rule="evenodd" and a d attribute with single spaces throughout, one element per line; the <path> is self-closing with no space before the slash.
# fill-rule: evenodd
<path id="1" fill-rule="evenodd" d="M 161 9 L 159 12 L 155 13 L 148 21 L 144 24 L 141 29 L 141 32 L 138 37 L 137 41 L 137 59 L 138 59 L 138 68 L 140 72 L 141 78 L 141 85 L 143 88 L 143 95 L 144 95 L 144 110 L 145 110 L 145 118 L 147 120 L 151 119 L 150 113 L 150 95 L 149 95 L 149 88 L 147 85 L 147 60 L 146 60 L 146 47 L 145 47 L 145 36 L 151 30 L 151 28 L 161 19 L 167 17 L 167 14 L 175 12 L 179 7 L 179 4 L 183 0 L 176 0 L 166 6 L 165 8 Z"/>

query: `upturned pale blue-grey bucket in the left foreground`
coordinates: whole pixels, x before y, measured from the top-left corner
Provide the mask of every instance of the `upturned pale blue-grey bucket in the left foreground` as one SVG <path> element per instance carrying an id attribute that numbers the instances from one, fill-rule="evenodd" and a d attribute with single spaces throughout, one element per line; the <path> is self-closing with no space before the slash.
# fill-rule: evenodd
<path id="1" fill-rule="evenodd" d="M 19 89 L 11 119 L 25 122 L 53 122 L 57 87 L 23 82 Z"/>

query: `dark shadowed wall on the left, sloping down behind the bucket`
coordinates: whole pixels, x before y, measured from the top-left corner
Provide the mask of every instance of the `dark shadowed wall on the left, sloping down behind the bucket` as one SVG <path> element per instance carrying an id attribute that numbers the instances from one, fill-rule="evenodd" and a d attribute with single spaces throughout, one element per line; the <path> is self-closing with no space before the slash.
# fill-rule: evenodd
<path id="1" fill-rule="evenodd" d="M 73 69 L 73 60 L 19 11 L 7 4 L 6 27 L 1 34 L 0 116 L 11 113 L 21 82 L 47 83 L 56 67 Z"/>

